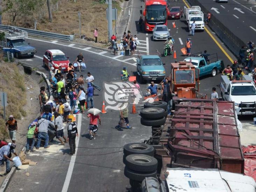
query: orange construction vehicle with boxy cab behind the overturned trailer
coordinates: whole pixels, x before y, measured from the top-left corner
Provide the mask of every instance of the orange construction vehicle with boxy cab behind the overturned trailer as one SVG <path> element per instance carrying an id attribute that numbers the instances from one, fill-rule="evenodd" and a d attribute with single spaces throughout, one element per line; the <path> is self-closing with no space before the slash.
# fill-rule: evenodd
<path id="1" fill-rule="evenodd" d="M 207 94 L 199 91 L 199 69 L 191 62 L 171 63 L 171 73 L 168 78 L 171 82 L 172 93 L 178 98 L 206 99 Z"/>

